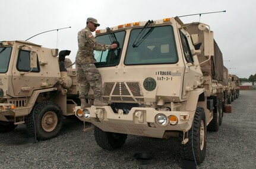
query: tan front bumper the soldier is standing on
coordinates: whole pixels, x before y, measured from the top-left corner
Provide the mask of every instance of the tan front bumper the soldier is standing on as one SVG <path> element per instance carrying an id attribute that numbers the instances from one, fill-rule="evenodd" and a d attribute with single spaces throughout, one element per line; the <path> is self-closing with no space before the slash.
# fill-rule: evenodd
<path id="1" fill-rule="evenodd" d="M 188 131 L 191 128 L 193 116 L 189 112 L 179 111 L 156 111 L 154 108 L 132 108 L 128 114 L 113 112 L 110 106 L 86 108 L 90 112 L 90 118 L 78 116 L 80 106 L 75 107 L 75 115 L 84 122 L 90 122 L 106 132 L 117 132 L 122 134 L 141 135 L 146 137 L 165 138 L 168 133 Z M 168 122 L 160 126 L 156 122 L 156 116 L 164 114 L 167 117 L 175 115 L 178 122 L 175 125 Z M 184 119 L 184 116 L 186 118 Z"/>

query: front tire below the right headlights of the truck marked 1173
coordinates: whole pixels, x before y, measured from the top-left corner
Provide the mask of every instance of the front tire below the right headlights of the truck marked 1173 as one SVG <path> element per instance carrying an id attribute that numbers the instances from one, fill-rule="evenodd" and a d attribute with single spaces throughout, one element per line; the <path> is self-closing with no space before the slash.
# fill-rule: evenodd
<path id="1" fill-rule="evenodd" d="M 187 134 L 185 138 L 187 137 Z M 179 133 L 179 154 L 183 160 L 195 161 L 201 164 L 206 157 L 206 114 L 204 109 L 198 107 L 195 111 L 194 121 L 188 131 L 188 142 L 183 145 L 183 132 Z"/>

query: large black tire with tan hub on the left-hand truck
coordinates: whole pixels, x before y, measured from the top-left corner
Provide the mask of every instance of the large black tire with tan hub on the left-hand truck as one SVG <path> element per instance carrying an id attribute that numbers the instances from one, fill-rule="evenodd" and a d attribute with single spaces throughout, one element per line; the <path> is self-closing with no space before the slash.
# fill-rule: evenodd
<path id="1" fill-rule="evenodd" d="M 61 108 L 53 102 L 44 101 L 34 106 L 26 120 L 29 135 L 46 140 L 59 134 L 62 128 Z"/>

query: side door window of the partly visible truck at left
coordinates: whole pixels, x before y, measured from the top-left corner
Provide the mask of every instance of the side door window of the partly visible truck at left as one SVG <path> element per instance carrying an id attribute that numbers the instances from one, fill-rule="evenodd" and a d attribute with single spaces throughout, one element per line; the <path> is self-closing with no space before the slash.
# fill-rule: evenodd
<path id="1" fill-rule="evenodd" d="M 18 52 L 17 70 L 19 71 L 30 71 L 30 51 L 20 50 Z M 39 72 L 39 62 L 37 57 L 37 67 L 31 70 L 32 72 Z"/>

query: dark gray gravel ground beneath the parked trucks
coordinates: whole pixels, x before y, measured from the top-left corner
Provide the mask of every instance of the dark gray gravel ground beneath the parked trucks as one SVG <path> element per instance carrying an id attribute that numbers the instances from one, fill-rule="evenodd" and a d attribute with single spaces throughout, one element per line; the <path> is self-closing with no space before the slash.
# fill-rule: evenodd
<path id="1" fill-rule="evenodd" d="M 207 131 L 207 152 L 199 168 L 256 168 L 256 91 L 241 91 L 218 132 Z M 178 139 L 128 135 L 124 147 L 105 151 L 78 119 L 65 119 L 58 137 L 33 143 L 24 125 L 0 134 L 0 168 L 181 168 Z M 137 161 L 136 152 L 152 160 Z"/>

